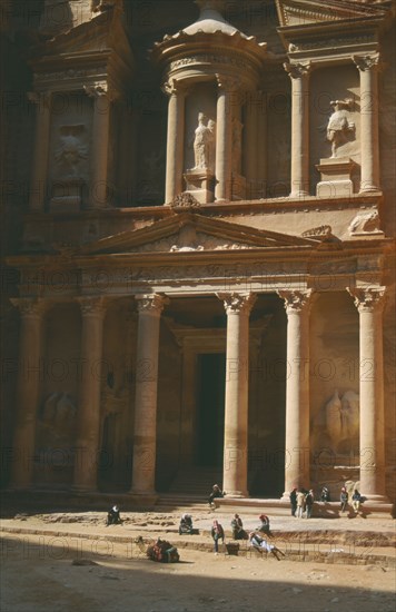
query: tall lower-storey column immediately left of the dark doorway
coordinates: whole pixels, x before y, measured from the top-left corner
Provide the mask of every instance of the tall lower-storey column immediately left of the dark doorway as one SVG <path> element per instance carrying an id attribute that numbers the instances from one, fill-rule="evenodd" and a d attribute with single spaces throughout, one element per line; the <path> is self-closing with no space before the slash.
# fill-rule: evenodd
<path id="1" fill-rule="evenodd" d="M 155 493 L 157 386 L 160 315 L 166 298 L 136 296 L 139 320 L 135 394 L 133 466 L 131 493 Z"/>

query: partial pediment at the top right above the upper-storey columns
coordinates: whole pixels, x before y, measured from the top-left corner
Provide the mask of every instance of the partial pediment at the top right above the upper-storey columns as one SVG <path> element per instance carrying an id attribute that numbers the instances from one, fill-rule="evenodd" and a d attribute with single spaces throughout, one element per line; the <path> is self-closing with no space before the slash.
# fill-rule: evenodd
<path id="1" fill-rule="evenodd" d="M 298 27 L 326 21 L 341 21 L 362 18 L 382 17 L 384 3 L 376 6 L 354 0 L 277 0 L 279 23 L 281 27 Z"/>

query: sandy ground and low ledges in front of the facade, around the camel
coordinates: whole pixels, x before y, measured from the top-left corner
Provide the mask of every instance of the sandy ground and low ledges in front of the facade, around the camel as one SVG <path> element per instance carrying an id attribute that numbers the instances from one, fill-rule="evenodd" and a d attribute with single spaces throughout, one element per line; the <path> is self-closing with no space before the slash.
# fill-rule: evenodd
<path id="1" fill-rule="evenodd" d="M 395 612 L 395 566 L 296 562 L 287 555 L 278 562 L 255 551 L 232 556 L 181 546 L 180 563 L 154 563 L 133 544 L 135 535 L 140 529 L 146 539 L 177 543 L 175 525 L 171 517 L 157 525 L 150 516 L 139 521 L 112 527 L 93 514 L 2 521 L 1 612 Z M 190 536 L 191 544 L 194 537 L 210 541 L 209 525 L 209 517 L 201 520 L 201 535 Z M 76 560 L 95 564 L 73 565 Z"/>

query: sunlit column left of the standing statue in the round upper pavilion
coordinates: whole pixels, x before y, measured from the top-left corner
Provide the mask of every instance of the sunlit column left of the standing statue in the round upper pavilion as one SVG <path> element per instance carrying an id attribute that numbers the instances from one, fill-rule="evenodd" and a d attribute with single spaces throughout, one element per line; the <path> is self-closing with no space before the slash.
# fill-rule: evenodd
<path id="1" fill-rule="evenodd" d="M 185 149 L 185 98 L 186 90 L 175 79 L 164 85 L 164 91 L 169 96 L 168 102 L 168 136 L 167 136 L 167 176 L 165 203 L 169 204 L 181 194 L 182 165 Z"/>

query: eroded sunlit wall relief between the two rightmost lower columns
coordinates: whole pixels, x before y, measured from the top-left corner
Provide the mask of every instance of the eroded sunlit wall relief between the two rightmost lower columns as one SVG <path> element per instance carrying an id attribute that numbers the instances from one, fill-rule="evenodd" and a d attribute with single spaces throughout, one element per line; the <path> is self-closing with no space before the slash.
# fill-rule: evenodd
<path id="1" fill-rule="evenodd" d="M 317 446 L 329 446 L 339 455 L 358 451 L 359 445 L 359 396 L 354 391 L 333 396 L 314 423 Z"/>

